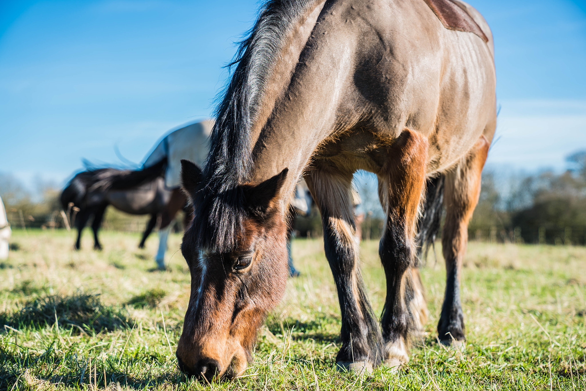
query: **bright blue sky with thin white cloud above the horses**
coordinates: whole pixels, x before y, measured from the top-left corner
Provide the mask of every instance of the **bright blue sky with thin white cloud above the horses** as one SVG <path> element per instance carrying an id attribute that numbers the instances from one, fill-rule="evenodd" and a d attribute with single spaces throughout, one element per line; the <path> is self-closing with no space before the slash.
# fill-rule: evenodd
<path id="1" fill-rule="evenodd" d="M 586 2 L 471 0 L 492 27 L 489 166 L 563 169 L 586 149 Z M 0 1 L 0 172 L 62 184 L 81 159 L 140 162 L 209 116 L 257 2 Z"/>

